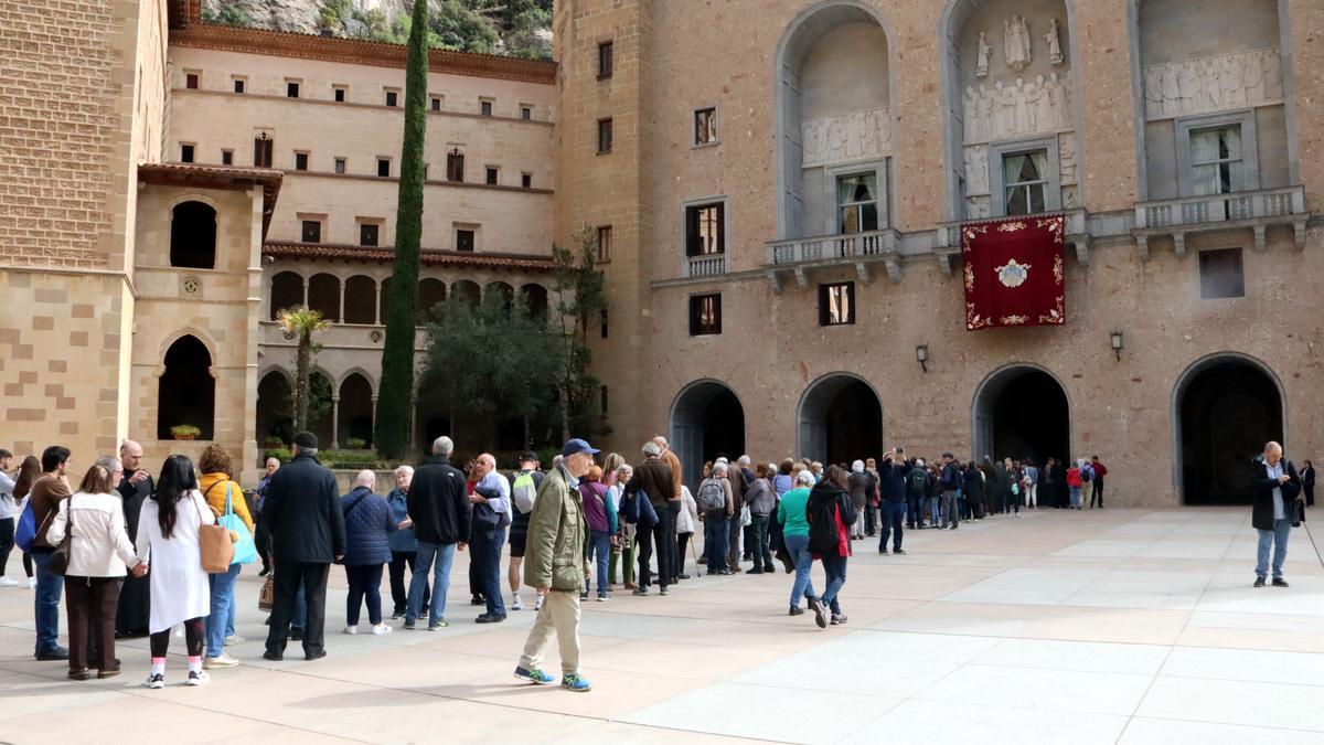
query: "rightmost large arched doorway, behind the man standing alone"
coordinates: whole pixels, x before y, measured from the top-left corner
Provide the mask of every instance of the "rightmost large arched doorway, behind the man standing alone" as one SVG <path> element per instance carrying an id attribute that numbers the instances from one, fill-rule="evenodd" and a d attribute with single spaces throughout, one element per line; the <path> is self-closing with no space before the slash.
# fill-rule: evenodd
<path id="1" fill-rule="evenodd" d="M 1258 359 L 1207 357 L 1178 378 L 1173 422 L 1182 504 L 1249 504 L 1250 460 L 1286 433 L 1282 386 Z"/>

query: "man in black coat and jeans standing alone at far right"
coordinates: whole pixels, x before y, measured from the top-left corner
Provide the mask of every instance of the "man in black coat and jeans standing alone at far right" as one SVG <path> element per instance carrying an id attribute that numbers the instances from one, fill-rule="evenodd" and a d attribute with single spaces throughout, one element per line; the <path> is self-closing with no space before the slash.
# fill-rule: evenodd
<path id="1" fill-rule="evenodd" d="M 1274 587 L 1287 587 L 1283 579 L 1283 561 L 1287 558 L 1287 538 L 1296 522 L 1296 497 L 1301 493 L 1301 480 L 1292 461 L 1283 457 L 1283 445 L 1268 443 L 1264 455 L 1255 456 L 1250 468 L 1251 516 L 1250 524 L 1259 532 L 1255 557 L 1255 587 L 1264 586 L 1268 575 L 1268 549 L 1274 549 Z"/>

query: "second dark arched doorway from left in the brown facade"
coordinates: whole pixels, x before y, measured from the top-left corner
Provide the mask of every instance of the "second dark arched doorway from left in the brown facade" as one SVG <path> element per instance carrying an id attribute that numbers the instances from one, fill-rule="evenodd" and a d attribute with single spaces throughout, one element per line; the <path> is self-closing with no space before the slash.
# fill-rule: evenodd
<path id="1" fill-rule="evenodd" d="M 874 387 L 850 372 L 825 375 L 800 399 L 800 456 L 849 464 L 883 455 L 883 404 Z"/>

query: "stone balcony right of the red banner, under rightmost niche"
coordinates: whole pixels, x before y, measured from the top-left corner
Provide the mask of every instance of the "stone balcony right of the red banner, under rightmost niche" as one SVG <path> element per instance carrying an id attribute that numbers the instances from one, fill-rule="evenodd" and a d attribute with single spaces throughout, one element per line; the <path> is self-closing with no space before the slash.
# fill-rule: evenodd
<path id="1" fill-rule="evenodd" d="M 1172 236 L 1177 256 L 1186 255 L 1186 235 L 1209 231 L 1250 228 L 1255 249 L 1263 251 L 1270 227 L 1291 227 L 1296 248 L 1305 247 L 1305 187 L 1266 188 L 1207 196 L 1185 196 L 1140 201 L 1136 204 L 1136 227 L 1132 235 L 1140 258 L 1149 260 L 1149 239 Z"/>

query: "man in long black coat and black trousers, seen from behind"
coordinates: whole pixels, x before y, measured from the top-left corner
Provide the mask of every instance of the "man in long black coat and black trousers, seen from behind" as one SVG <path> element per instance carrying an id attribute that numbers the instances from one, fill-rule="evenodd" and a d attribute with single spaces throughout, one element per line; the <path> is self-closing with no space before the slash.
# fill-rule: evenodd
<path id="1" fill-rule="evenodd" d="M 308 660 L 324 658 L 327 574 L 331 562 L 344 557 L 344 510 L 335 473 L 318 461 L 318 437 L 312 432 L 294 436 L 294 460 L 271 476 L 262 520 L 271 532 L 275 562 L 271 628 L 262 656 L 285 658 L 294 595 L 302 582 L 307 604 L 303 655 Z"/>

